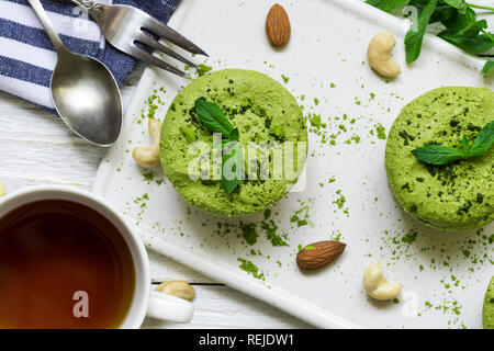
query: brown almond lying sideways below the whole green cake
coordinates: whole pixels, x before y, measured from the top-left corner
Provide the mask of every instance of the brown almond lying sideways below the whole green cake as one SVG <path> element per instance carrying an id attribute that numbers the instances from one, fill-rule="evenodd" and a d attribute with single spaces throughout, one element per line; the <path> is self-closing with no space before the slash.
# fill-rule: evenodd
<path id="1" fill-rule="evenodd" d="M 318 241 L 307 245 L 296 254 L 296 264 L 303 271 L 314 271 L 333 262 L 346 247 L 347 245 L 340 241 Z"/>

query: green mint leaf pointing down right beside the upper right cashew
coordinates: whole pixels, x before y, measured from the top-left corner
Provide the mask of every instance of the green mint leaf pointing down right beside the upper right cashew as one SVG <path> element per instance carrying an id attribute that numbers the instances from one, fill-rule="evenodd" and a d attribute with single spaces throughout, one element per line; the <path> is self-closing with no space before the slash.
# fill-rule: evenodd
<path id="1" fill-rule="evenodd" d="M 415 23 L 412 23 L 408 32 L 405 35 L 405 52 L 406 64 L 412 64 L 418 56 L 420 56 L 422 43 L 424 41 L 424 34 L 429 24 L 429 20 L 436 10 L 437 0 L 430 0 L 418 15 L 418 22 L 416 23 L 416 31 L 414 31 Z"/>

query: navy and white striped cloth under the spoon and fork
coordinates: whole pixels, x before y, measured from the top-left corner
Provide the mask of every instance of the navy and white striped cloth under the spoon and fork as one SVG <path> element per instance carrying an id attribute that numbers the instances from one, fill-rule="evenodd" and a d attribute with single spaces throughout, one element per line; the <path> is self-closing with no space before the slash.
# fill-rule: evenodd
<path id="1" fill-rule="evenodd" d="M 180 0 L 100 0 L 139 8 L 168 22 Z M 98 25 L 70 0 L 42 0 L 67 47 L 103 61 L 119 84 L 136 61 L 105 43 Z M 0 0 L 0 90 L 54 111 L 49 80 L 56 54 L 26 0 Z"/>

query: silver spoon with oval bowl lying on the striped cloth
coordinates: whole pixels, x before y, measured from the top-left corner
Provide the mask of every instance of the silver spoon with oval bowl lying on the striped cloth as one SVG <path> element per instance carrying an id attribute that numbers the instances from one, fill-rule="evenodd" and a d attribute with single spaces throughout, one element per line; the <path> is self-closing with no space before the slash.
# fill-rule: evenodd
<path id="1" fill-rule="evenodd" d="M 122 129 L 122 98 L 110 70 L 99 60 L 71 53 L 55 32 L 40 0 L 27 0 L 58 55 L 50 89 L 61 120 L 86 140 L 113 144 Z"/>

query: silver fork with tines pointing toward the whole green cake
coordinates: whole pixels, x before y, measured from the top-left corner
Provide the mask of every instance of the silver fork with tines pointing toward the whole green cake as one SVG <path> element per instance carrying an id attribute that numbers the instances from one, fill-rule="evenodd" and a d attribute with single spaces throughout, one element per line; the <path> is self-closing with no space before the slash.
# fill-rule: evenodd
<path id="1" fill-rule="evenodd" d="M 204 50 L 183 35 L 139 9 L 124 4 L 108 5 L 92 0 L 71 1 L 81 5 L 91 15 L 110 44 L 144 63 L 158 66 L 181 77 L 186 76 L 180 69 L 137 46 L 137 43 L 161 52 L 186 65 L 197 67 L 193 63 L 159 43 L 146 32 L 162 37 L 189 53 L 207 56 Z"/>

